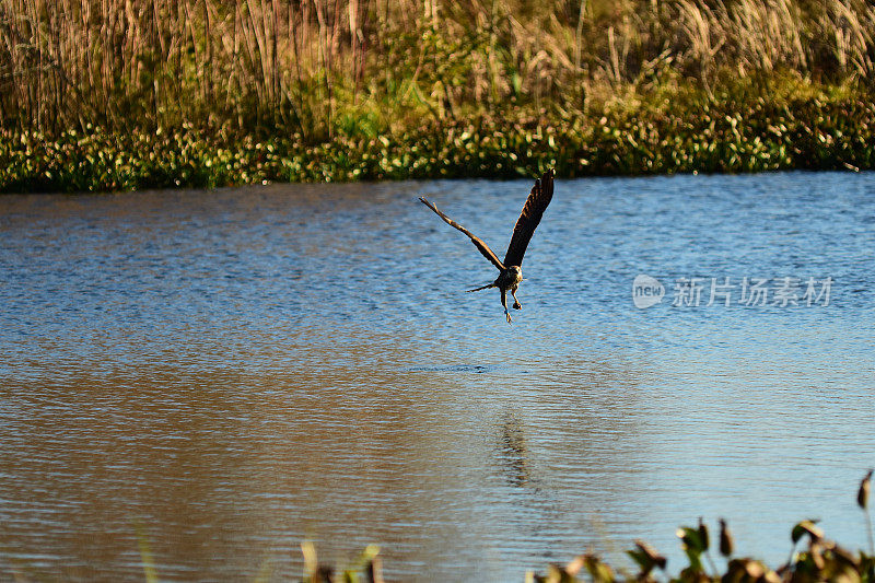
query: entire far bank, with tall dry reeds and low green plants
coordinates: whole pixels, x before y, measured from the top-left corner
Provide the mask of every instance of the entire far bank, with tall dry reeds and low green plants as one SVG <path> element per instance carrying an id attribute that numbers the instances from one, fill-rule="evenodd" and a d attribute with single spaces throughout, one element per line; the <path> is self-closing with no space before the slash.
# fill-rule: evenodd
<path id="1" fill-rule="evenodd" d="M 0 0 L 0 191 L 871 168 L 874 93 L 864 0 Z"/>

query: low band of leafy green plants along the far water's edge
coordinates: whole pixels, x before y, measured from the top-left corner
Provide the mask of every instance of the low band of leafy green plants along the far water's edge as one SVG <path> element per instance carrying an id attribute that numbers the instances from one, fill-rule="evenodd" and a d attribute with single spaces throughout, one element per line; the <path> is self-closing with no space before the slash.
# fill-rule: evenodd
<path id="1" fill-rule="evenodd" d="M 88 128 L 0 133 L 0 191 L 215 187 L 269 182 L 875 167 L 875 105 L 862 94 L 610 109 L 550 121 L 477 118 L 398 133 L 256 140 Z"/>

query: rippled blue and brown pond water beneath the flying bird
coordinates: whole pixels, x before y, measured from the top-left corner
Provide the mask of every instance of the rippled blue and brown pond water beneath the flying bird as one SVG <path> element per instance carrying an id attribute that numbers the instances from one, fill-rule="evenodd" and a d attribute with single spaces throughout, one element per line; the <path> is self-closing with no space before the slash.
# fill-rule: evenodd
<path id="1" fill-rule="evenodd" d="M 875 174 L 557 180 L 509 326 L 417 197 L 503 256 L 530 185 L 0 198 L 0 579 L 142 580 L 138 528 L 167 580 L 866 546 Z"/>

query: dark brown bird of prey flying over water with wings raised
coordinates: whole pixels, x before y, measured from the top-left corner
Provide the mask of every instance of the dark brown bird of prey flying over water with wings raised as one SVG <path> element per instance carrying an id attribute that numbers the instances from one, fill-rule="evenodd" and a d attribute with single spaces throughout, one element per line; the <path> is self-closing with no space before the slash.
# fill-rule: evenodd
<path id="1" fill-rule="evenodd" d="M 508 290 L 511 291 L 511 295 L 513 295 L 513 307 L 514 310 L 522 310 L 523 305 L 520 303 L 520 300 L 516 299 L 516 288 L 520 287 L 520 282 L 523 281 L 523 256 L 526 253 L 526 247 L 528 246 L 528 242 L 532 240 L 532 235 L 535 233 L 535 229 L 538 226 L 540 222 L 540 218 L 544 214 L 545 209 L 547 209 L 547 205 L 550 203 L 550 200 L 553 198 L 553 171 L 548 170 L 547 172 L 541 175 L 541 177 L 535 180 L 535 186 L 532 187 L 532 193 L 528 195 L 526 199 L 526 203 L 523 207 L 523 212 L 520 213 L 520 218 L 516 220 L 516 226 L 513 228 L 513 235 L 511 236 L 511 244 L 508 245 L 508 253 L 504 255 L 504 261 L 500 261 L 495 253 L 489 248 L 489 245 L 483 243 L 483 241 L 476 236 L 474 233 L 458 224 L 456 221 L 438 210 L 438 207 L 425 200 L 424 198 L 420 197 L 419 200 L 422 201 L 423 205 L 429 207 L 438 217 L 444 220 L 450 226 L 458 229 L 468 237 L 470 237 L 471 243 L 474 243 L 475 247 L 479 249 L 479 252 L 489 259 L 489 261 L 495 266 L 499 270 L 499 277 L 495 278 L 495 281 L 492 283 L 488 283 L 480 288 L 476 288 L 474 290 L 468 291 L 480 291 L 487 290 L 489 288 L 498 288 L 501 292 L 501 305 L 504 306 L 504 316 L 508 318 L 508 324 L 513 322 L 511 317 L 511 313 L 508 312 Z"/>

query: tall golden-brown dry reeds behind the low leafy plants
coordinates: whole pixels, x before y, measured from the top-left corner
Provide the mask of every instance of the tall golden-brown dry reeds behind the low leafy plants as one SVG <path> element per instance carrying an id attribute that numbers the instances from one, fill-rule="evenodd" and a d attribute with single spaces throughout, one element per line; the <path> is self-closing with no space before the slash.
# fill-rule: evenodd
<path id="1" fill-rule="evenodd" d="M 874 34 L 866 0 L 0 0 L 0 127 L 311 139 L 585 109 L 665 75 L 871 84 Z"/>

